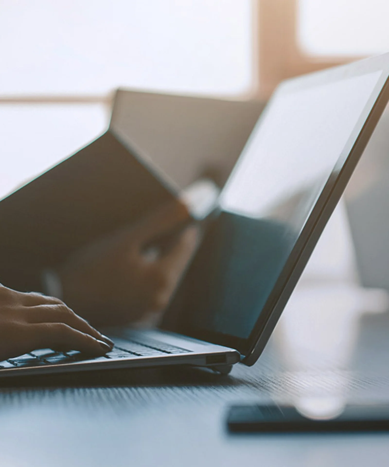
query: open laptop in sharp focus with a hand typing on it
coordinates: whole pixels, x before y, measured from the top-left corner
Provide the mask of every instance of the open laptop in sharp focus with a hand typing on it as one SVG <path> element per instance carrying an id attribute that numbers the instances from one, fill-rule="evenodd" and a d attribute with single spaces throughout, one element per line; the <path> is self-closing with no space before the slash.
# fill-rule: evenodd
<path id="1" fill-rule="evenodd" d="M 155 330 L 113 330 L 87 359 L 38 349 L 21 376 L 258 359 L 389 100 L 389 54 L 283 82 L 255 126 Z"/>

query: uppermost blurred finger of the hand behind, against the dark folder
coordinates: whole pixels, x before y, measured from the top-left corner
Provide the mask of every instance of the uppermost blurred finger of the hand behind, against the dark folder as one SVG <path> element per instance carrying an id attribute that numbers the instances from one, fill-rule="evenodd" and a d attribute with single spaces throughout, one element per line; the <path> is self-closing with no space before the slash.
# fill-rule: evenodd
<path id="1" fill-rule="evenodd" d="M 133 227 L 131 236 L 138 244 L 144 244 L 169 233 L 174 227 L 190 219 L 187 207 L 181 201 L 175 200 L 138 222 Z"/>

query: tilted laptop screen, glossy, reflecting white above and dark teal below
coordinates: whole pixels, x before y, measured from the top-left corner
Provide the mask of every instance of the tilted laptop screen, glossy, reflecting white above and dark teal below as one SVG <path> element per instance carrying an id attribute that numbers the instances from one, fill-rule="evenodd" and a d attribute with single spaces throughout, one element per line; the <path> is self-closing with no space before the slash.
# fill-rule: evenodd
<path id="1" fill-rule="evenodd" d="M 248 340 L 325 185 L 353 147 L 381 75 L 280 86 L 221 193 L 221 213 L 173 298 L 165 329 L 224 345 Z"/>

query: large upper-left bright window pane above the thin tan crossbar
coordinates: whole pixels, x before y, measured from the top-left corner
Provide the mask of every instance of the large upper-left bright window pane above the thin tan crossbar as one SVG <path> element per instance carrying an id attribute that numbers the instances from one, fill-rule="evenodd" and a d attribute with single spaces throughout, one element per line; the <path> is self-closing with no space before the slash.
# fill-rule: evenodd
<path id="1" fill-rule="evenodd" d="M 251 0 L 2 0 L 0 95 L 252 85 Z"/>

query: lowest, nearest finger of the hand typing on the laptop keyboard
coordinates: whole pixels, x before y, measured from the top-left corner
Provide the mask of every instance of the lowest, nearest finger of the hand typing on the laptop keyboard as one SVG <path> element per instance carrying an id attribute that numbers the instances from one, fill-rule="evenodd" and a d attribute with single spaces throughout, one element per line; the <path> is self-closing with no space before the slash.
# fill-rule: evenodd
<path id="1" fill-rule="evenodd" d="M 39 323 L 25 327 L 25 347 L 32 351 L 51 348 L 58 351 L 78 350 L 90 355 L 104 355 L 111 350 L 105 342 L 82 333 L 64 323 Z"/>

